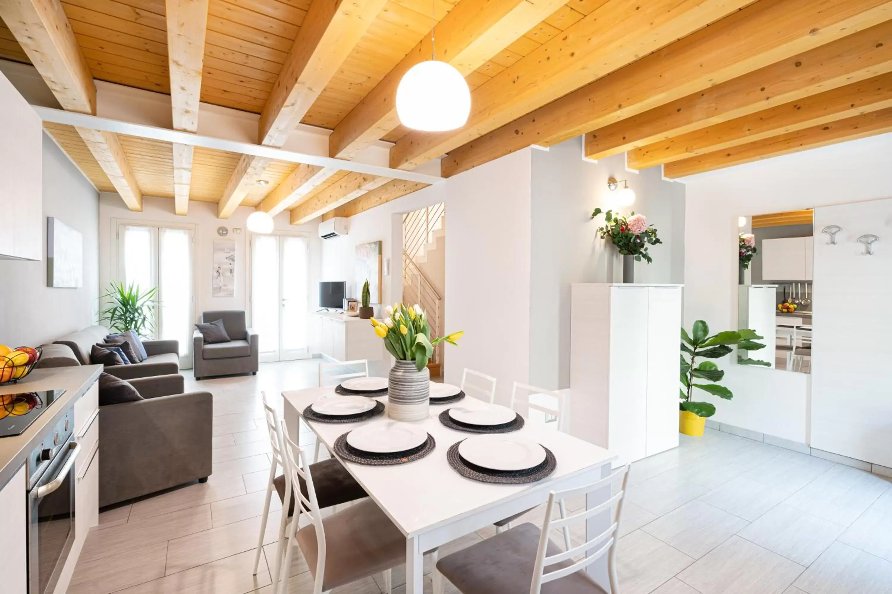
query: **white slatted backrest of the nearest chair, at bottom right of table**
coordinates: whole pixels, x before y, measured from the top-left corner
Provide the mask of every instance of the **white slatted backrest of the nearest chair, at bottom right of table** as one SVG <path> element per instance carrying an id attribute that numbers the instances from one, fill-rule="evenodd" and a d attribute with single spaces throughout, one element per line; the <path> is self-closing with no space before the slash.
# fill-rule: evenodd
<path id="1" fill-rule="evenodd" d="M 599 491 L 601 489 L 609 490 L 611 488 L 611 485 L 615 482 L 616 478 L 620 475 L 623 476 L 622 487 L 620 488 L 619 492 L 616 492 L 613 496 L 610 497 L 610 499 L 608 499 L 604 503 L 601 503 L 599 506 L 591 509 L 582 509 L 582 511 L 572 516 L 566 515 L 564 511 L 566 506 L 559 506 L 561 508 L 560 519 L 551 519 L 552 513 L 555 507 L 558 506 L 559 501 L 566 500 L 570 497 L 578 497 L 580 495 L 585 495 L 590 492 Z M 565 577 L 566 575 L 574 574 L 575 572 L 578 572 L 585 567 L 590 566 L 592 563 L 597 561 L 599 558 L 604 557 L 605 555 L 608 556 L 607 574 L 609 574 L 610 577 L 610 591 L 615 592 L 619 590 L 618 584 L 615 583 L 616 541 L 619 540 L 617 537 L 617 533 L 619 531 L 620 517 L 623 514 L 623 499 L 625 496 L 625 485 L 628 477 L 629 465 L 626 464 L 620 468 L 616 468 L 616 470 L 610 476 L 602 478 L 595 483 L 577 487 L 575 489 L 568 489 L 566 491 L 552 491 L 549 493 L 549 506 L 548 509 L 546 509 L 545 522 L 542 525 L 542 533 L 539 539 L 539 550 L 536 553 L 536 565 L 533 568 L 533 583 L 530 585 L 530 594 L 540 594 L 543 583 L 553 582 L 554 580 L 558 580 L 562 577 Z M 616 511 L 612 514 L 612 522 L 607 530 L 600 533 L 598 536 L 595 536 L 591 540 L 585 541 L 574 549 L 565 550 L 555 555 L 548 555 L 547 551 L 549 545 L 549 533 L 552 530 L 563 529 L 566 528 L 567 525 L 571 525 L 577 522 L 584 523 L 589 518 L 598 516 L 605 511 L 612 512 L 614 506 Z M 576 560 L 574 557 L 582 558 Z M 567 559 L 573 559 L 573 565 L 555 571 L 546 572 L 545 568 L 547 566 L 552 566 L 556 563 L 560 563 L 561 561 L 566 561 Z"/>

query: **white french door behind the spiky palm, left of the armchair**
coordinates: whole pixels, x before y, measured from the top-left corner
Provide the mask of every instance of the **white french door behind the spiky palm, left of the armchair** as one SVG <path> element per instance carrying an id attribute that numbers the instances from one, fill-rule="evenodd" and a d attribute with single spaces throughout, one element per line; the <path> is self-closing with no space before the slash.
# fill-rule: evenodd
<path id="1" fill-rule="evenodd" d="M 118 225 L 118 279 L 141 291 L 158 288 L 151 338 L 179 342 L 180 367 L 192 367 L 194 232 L 189 228 Z"/>

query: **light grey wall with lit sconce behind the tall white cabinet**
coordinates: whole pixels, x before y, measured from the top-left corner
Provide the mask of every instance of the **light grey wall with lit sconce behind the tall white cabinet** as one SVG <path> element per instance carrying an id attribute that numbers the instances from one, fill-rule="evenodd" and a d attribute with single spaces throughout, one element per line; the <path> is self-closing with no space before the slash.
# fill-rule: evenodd
<path id="1" fill-rule="evenodd" d="M 622 282 L 621 256 L 598 237 L 604 216 L 591 220 L 591 211 L 613 208 L 647 216 L 663 243 L 649 248 L 653 264 L 635 264 L 635 281 L 681 283 L 685 188 L 664 180 L 659 167 L 626 171 L 622 154 L 584 161 L 582 137 L 532 154 L 530 381 L 558 389 L 570 387 L 570 285 Z M 607 188 L 611 176 L 628 180 L 636 194 L 632 207 L 615 207 L 616 194 Z"/>

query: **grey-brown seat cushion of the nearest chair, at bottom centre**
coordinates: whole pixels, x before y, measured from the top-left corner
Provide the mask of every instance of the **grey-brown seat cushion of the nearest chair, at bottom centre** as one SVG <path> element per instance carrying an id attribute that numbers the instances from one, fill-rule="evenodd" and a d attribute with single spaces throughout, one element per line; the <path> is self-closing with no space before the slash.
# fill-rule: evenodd
<path id="1" fill-rule="evenodd" d="M 530 591 L 541 531 L 522 524 L 461 549 L 437 563 L 437 569 L 462 594 L 522 594 Z M 563 549 L 549 540 L 547 555 Z M 545 573 L 573 565 L 572 560 L 545 567 Z M 584 570 L 542 584 L 542 594 L 605 594 Z"/>

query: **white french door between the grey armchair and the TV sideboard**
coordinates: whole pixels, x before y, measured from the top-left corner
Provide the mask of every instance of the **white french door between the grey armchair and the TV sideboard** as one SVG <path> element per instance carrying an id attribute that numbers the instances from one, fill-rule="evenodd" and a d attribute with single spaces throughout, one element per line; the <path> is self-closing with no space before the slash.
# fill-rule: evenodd
<path id="1" fill-rule="evenodd" d="M 309 242 L 292 235 L 252 236 L 251 325 L 260 335 L 260 361 L 310 356 Z"/>

